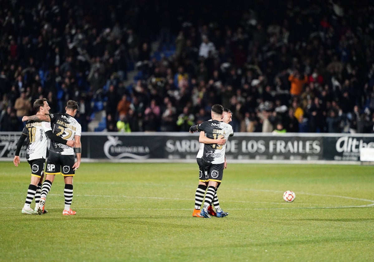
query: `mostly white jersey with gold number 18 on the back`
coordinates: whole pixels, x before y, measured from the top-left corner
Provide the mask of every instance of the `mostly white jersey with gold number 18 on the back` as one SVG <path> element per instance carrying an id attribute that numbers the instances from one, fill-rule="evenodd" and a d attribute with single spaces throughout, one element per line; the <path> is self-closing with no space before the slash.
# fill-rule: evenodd
<path id="1" fill-rule="evenodd" d="M 22 130 L 22 133 L 27 135 L 27 160 L 46 158 L 48 141 L 46 132 L 50 130 L 52 129 L 49 122 L 27 121 Z"/>

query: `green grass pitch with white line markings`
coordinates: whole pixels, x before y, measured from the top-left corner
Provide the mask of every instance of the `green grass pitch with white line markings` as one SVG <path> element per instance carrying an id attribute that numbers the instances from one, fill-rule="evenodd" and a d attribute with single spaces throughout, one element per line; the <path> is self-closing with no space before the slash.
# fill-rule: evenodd
<path id="1" fill-rule="evenodd" d="M 75 216 L 62 215 L 62 176 L 49 213 L 24 215 L 30 167 L 0 162 L 0 261 L 374 259 L 372 166 L 229 163 L 218 196 L 230 214 L 211 219 L 192 217 L 196 163 L 83 162 L 76 173 Z"/>

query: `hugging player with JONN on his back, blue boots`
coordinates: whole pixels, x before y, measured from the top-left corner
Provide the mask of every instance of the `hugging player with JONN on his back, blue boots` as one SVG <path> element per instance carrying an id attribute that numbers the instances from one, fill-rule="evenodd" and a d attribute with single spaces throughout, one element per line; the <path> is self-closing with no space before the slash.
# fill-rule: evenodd
<path id="1" fill-rule="evenodd" d="M 204 131 L 207 138 L 217 139 L 223 137 L 227 139 L 234 134 L 232 126 L 222 122 L 223 107 L 219 104 L 212 106 L 211 115 L 212 121 L 206 121 L 199 125 L 190 127 L 190 132 Z M 208 176 L 208 190 L 205 195 L 204 207 L 200 211 L 200 215 L 210 218 L 208 214 L 208 207 L 211 205 L 216 189 L 219 183 L 222 182 L 224 162 L 225 162 L 226 144 L 204 144 L 203 151 L 203 171 Z M 227 216 L 228 213 L 219 208 L 217 210 L 217 217 Z"/>

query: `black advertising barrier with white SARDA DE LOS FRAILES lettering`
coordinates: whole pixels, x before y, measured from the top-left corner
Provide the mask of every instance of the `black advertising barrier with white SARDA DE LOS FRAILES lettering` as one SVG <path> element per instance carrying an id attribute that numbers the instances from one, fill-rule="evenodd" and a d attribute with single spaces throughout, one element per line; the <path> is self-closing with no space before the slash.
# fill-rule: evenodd
<path id="1" fill-rule="evenodd" d="M 13 159 L 19 135 L 20 132 L 0 132 L 0 160 Z M 198 139 L 198 133 L 188 132 L 84 132 L 81 137 L 82 162 L 195 161 L 200 146 Z M 235 133 L 227 140 L 226 158 L 240 163 L 327 161 L 358 164 L 362 148 L 374 148 L 373 134 Z M 25 154 L 24 146 L 21 159 Z M 363 160 L 367 159 L 372 158 Z"/>

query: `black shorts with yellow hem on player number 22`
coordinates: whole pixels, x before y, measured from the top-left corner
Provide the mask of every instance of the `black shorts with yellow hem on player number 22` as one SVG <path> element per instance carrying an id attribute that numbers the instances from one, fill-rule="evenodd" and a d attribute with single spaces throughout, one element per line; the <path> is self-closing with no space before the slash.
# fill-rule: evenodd
<path id="1" fill-rule="evenodd" d="M 49 152 L 47 159 L 46 175 L 74 176 L 74 155 L 61 155 Z"/>

